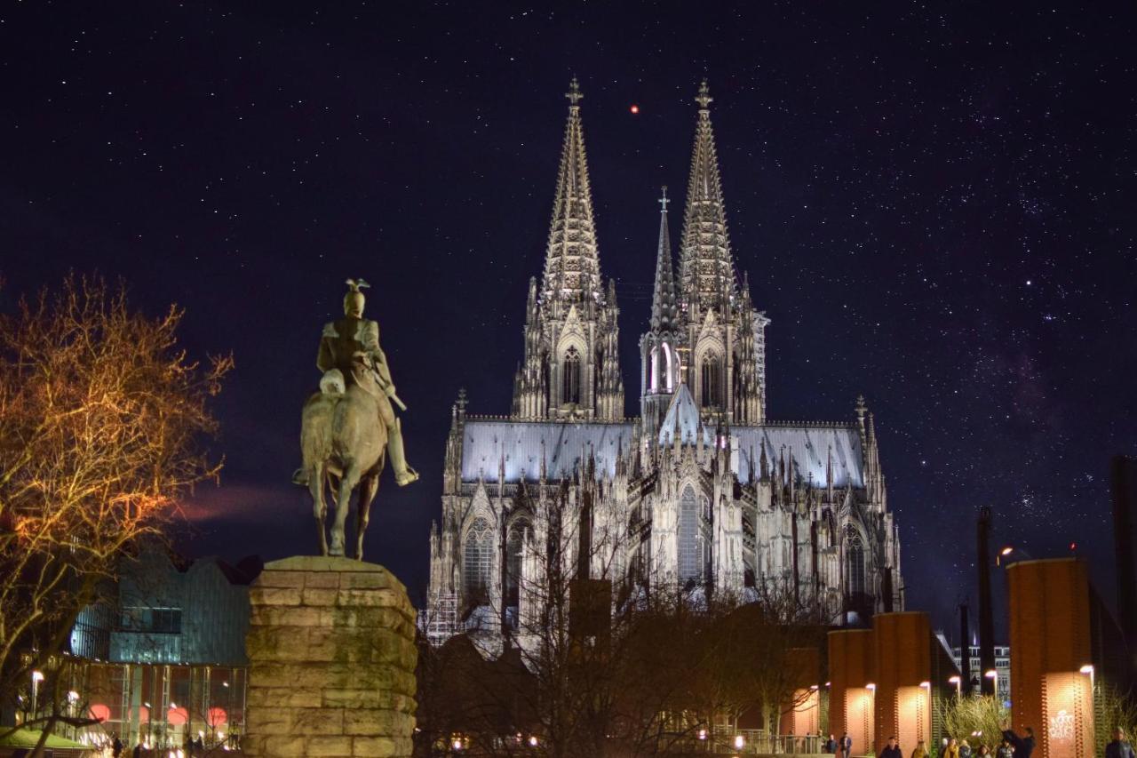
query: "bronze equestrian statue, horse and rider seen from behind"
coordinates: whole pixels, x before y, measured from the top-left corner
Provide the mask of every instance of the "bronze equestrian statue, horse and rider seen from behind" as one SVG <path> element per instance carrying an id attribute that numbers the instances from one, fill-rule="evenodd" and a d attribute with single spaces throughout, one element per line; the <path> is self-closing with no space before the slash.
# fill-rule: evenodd
<path id="1" fill-rule="evenodd" d="M 359 488 L 355 558 L 363 560 L 363 535 L 387 455 L 400 487 L 416 480 L 418 473 L 407 465 L 401 427 L 391 406 L 393 402 L 407 410 L 395 393 L 387 355 L 379 346 L 379 323 L 363 318 L 362 290 L 368 285 L 363 279 L 348 279 L 347 283 L 343 318 L 324 324 L 319 338 L 316 368 L 323 376 L 319 392 L 308 398 L 300 415 L 304 464 L 292 480 L 312 494 L 322 555 L 345 554 L 345 522 L 351 493 Z M 331 489 L 335 504 L 331 545 L 324 529 L 325 488 Z"/>

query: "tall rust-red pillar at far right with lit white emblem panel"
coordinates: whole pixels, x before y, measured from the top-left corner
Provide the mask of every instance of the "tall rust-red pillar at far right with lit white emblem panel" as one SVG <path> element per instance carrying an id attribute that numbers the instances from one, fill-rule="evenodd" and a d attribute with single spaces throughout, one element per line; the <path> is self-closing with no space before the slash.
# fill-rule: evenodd
<path id="1" fill-rule="evenodd" d="M 1035 730 L 1039 758 L 1094 753 L 1090 598 L 1085 562 L 1028 560 L 1007 567 L 1012 720 Z"/>

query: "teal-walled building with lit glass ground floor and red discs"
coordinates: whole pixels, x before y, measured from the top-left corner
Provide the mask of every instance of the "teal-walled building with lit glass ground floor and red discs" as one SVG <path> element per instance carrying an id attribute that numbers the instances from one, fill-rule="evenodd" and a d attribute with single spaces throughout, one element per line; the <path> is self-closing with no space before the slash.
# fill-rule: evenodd
<path id="1" fill-rule="evenodd" d="M 110 602 L 89 605 L 70 635 L 83 659 L 74 689 L 100 734 L 126 744 L 234 744 L 244 723 L 249 583 L 259 561 L 179 566 L 144 552 L 123 566 Z M 91 741 L 94 733 L 80 735 Z"/>

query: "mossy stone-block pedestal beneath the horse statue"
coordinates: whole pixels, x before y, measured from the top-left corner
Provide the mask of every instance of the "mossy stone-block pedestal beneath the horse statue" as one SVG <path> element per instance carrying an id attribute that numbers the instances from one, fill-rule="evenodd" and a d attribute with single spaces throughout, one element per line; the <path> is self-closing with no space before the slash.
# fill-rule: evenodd
<path id="1" fill-rule="evenodd" d="M 415 610 L 382 566 L 274 561 L 249 592 L 246 755 L 410 756 Z"/>

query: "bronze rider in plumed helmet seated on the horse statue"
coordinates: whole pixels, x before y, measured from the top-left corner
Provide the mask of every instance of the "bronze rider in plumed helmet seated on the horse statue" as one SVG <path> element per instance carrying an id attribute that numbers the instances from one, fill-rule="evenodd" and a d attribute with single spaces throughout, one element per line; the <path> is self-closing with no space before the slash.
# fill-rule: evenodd
<path id="1" fill-rule="evenodd" d="M 319 339 L 316 366 L 324 372 L 319 387 L 327 394 L 342 393 L 347 385 L 356 385 L 375 398 L 379 421 L 387 427 L 387 451 L 395 469 L 395 481 L 401 487 L 415 481 L 418 472 L 407 465 L 402 450 L 402 431 L 391 407 L 398 402 L 395 382 L 387 364 L 387 355 L 379 346 L 379 323 L 363 318 L 364 295 L 367 282 L 348 279 L 350 288 L 343 296 L 343 318 L 324 324 Z M 402 404 L 399 403 L 401 406 Z M 292 480 L 307 486 L 307 472 L 300 469 Z"/>

